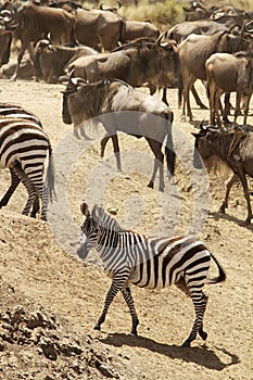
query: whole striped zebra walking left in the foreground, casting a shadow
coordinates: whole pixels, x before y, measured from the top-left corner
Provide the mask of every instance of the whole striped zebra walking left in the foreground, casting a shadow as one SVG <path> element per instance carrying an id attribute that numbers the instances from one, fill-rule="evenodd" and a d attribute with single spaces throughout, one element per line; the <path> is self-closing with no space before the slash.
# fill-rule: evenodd
<path id="1" fill-rule="evenodd" d="M 121 291 L 131 315 L 131 333 L 137 334 L 139 319 L 129 284 L 163 289 L 175 283 L 191 297 L 195 309 L 193 327 L 182 345 L 190 346 L 198 333 L 206 340 L 203 317 L 207 296 L 203 287 L 205 282 L 217 283 L 226 279 L 225 271 L 206 246 L 192 236 L 157 238 L 124 230 L 111 215 L 97 205 L 90 212 L 87 203 L 83 203 L 80 210 L 86 218 L 81 225 L 81 245 L 77 253 L 85 257 L 94 248 L 100 254 L 105 273 L 112 278 L 94 329 L 100 330 L 114 296 Z M 206 281 L 211 258 L 217 265 L 219 275 Z"/>

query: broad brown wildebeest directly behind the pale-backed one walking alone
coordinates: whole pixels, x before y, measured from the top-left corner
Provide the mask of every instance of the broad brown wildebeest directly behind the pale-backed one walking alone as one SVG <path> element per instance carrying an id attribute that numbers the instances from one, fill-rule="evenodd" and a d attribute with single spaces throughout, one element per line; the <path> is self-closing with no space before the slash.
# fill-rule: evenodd
<path id="1" fill-rule="evenodd" d="M 68 66 L 75 77 L 89 81 L 118 78 L 132 87 L 176 86 L 180 67 L 175 41 L 140 38 L 110 53 L 80 58 Z"/>

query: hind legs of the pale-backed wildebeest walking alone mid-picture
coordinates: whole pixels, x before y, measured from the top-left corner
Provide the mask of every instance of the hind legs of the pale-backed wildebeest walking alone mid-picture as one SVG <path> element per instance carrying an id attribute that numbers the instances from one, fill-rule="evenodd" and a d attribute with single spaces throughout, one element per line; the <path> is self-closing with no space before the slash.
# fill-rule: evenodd
<path id="1" fill-rule="evenodd" d="M 160 170 L 160 182 L 159 182 L 159 190 L 160 191 L 164 191 L 164 170 L 163 170 L 163 161 L 164 161 L 164 154 L 162 153 L 162 143 L 147 138 L 147 141 L 152 150 L 152 152 L 154 153 L 154 167 L 153 167 L 153 173 L 151 176 L 151 179 L 149 181 L 148 187 L 153 189 L 154 187 L 154 179 L 157 173 L 157 169 Z"/>

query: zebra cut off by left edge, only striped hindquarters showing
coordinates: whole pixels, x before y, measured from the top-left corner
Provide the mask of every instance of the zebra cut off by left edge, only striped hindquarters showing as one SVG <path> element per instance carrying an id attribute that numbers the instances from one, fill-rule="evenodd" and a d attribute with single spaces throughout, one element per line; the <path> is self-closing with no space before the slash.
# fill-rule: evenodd
<path id="1" fill-rule="evenodd" d="M 45 161 L 49 154 L 47 185 L 43 182 Z M 11 186 L 0 201 L 5 206 L 22 181 L 28 192 L 24 215 L 35 217 L 40 208 L 47 220 L 49 197 L 54 192 L 52 147 L 39 118 L 14 104 L 0 103 L 0 168 L 8 167 Z"/>

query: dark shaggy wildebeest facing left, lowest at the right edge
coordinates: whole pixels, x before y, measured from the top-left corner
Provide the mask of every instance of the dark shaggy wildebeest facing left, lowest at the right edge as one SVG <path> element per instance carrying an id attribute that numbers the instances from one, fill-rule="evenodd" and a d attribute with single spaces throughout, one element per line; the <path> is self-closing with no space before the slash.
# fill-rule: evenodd
<path id="1" fill-rule="evenodd" d="M 226 195 L 219 212 L 225 213 L 228 207 L 230 189 L 240 179 L 248 205 L 245 223 L 250 224 L 253 215 L 246 175 L 253 177 L 253 127 L 248 125 L 235 125 L 229 128 L 201 126 L 200 132 L 192 135 L 195 137 L 195 148 L 208 169 L 217 169 L 217 165 L 220 163 L 233 172 L 232 177 L 227 182 Z M 194 164 L 198 166 L 195 160 Z"/>

